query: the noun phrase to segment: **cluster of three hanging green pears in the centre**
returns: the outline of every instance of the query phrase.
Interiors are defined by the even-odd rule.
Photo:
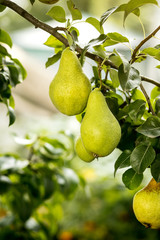
[[[62,53],[49,96],[55,107],[66,115],[77,115],[85,109],[80,137],[75,144],[82,160],[91,162],[109,155],[117,147],[121,138],[120,125],[100,89],[91,91],[91,83],[83,73],[79,59],[69,48]]]

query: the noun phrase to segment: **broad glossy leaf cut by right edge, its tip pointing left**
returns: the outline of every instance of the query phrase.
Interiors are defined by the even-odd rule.
[[[155,138],[160,136],[160,119],[159,117],[152,116],[136,129],[137,132],[150,137]]]

